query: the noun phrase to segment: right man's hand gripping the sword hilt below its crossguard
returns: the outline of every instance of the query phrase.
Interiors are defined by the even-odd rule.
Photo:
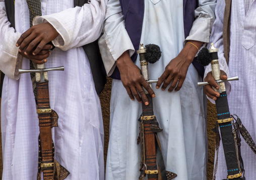
[[[227,78],[228,78],[228,77],[227,77],[227,74],[226,74],[224,71],[222,71],[222,70],[220,70],[220,78],[221,78],[222,80],[227,80]],[[220,93],[214,91],[212,87],[214,87],[214,88],[217,89],[217,90],[218,90],[220,87],[219,87],[219,85],[216,83],[216,81],[214,80],[212,71],[209,72],[209,73],[206,75],[206,77],[205,77],[205,82],[208,82],[208,83],[209,83],[208,85],[205,86],[205,93],[206,93],[206,95],[207,95],[209,98],[211,98],[211,99],[213,99],[213,100],[216,101],[216,100],[217,100],[217,97],[220,97]]]

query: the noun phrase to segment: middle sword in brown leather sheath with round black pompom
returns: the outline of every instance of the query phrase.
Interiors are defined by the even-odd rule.
[[[148,63],[155,63],[161,57],[159,46],[149,44],[145,46],[141,44],[137,53],[140,56],[141,74],[151,86],[151,83],[156,83],[157,80],[149,80]],[[143,88],[144,89],[144,88]],[[157,119],[153,112],[152,97],[146,89],[145,94],[148,98],[149,104],[146,106],[142,102],[142,115],[140,121],[140,135],[138,137],[138,144],[141,142],[141,174],[139,179],[142,180],[148,175],[148,180],[171,180],[177,174],[165,170],[165,165],[161,153],[160,141],[157,137],[157,132],[161,132]],[[157,169],[158,165],[158,169]]]

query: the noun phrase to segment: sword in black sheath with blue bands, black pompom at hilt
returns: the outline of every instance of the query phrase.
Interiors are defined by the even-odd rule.
[[[240,134],[246,141],[246,143],[250,146],[252,151],[256,154],[256,146],[254,141],[252,140],[249,132],[245,129],[241,120],[237,115],[230,115],[227,93],[225,88],[226,81],[234,81],[238,80],[238,76],[233,78],[228,78],[227,80],[221,80],[220,78],[220,67],[218,60],[218,49],[214,47],[214,44],[211,43],[211,48],[208,50],[207,48],[203,48],[198,54],[199,63],[203,66],[207,66],[211,63],[212,66],[212,74],[216,83],[219,85],[219,90],[213,89],[220,93],[220,97],[217,97],[216,109],[218,119],[216,121],[215,132],[216,136],[216,163],[214,168],[213,179],[216,179],[216,172],[218,167],[218,152],[220,145],[220,137],[222,138],[222,144],[225,154],[225,160],[227,165],[227,178],[233,180],[245,180],[244,177],[244,169],[243,169],[243,160],[241,157],[241,139]],[[208,85],[209,83],[203,82],[198,83],[198,86]],[[236,116],[236,118],[234,117]],[[219,134],[219,128],[221,132],[221,136]],[[239,134],[240,131],[240,134]],[[242,176],[243,175],[243,176]],[[224,179],[223,179],[224,180]]]

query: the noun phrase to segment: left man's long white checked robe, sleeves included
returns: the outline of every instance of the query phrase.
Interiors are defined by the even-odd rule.
[[[42,15],[47,15],[48,18],[54,18],[56,15],[66,17],[57,21],[62,27],[58,27],[58,23],[55,22],[51,22],[52,25],[56,28],[69,29],[68,34],[61,34],[65,41],[63,49],[67,51],[55,48],[46,63],[46,68],[65,67],[63,72],[48,73],[50,106],[59,116],[58,127],[52,129],[55,158],[70,171],[67,180],[103,180],[104,131],[100,101],[95,91],[88,58],[82,47],[75,47],[98,38],[102,31],[100,22],[104,19],[106,1],[92,0],[90,5],[75,9],[69,9],[73,7],[73,1],[42,0],[41,2]],[[1,0],[0,6],[2,12],[0,21],[3,18],[6,21],[4,1]],[[6,31],[9,36],[12,34],[20,36],[29,29],[26,0],[15,2],[15,17],[16,32],[19,34],[16,35],[14,30]],[[93,22],[92,17],[97,17],[97,20]],[[6,26],[7,29],[10,23],[5,25],[1,23],[1,26]],[[73,30],[70,31],[72,27]],[[86,32],[90,28],[92,30]],[[1,31],[1,39],[4,33]],[[66,41],[67,37],[70,41]],[[11,37],[10,39],[12,40]],[[12,42],[7,49],[9,54],[17,51],[15,40]],[[66,45],[66,42],[69,44]],[[5,45],[3,42],[0,44],[1,47]],[[0,54],[0,62],[5,58],[5,54]],[[11,60],[16,62],[17,57]],[[0,68],[3,70],[9,66],[1,65]],[[29,60],[23,59],[22,68],[29,69]],[[1,104],[3,179],[34,180],[37,175],[39,127],[30,74],[21,74],[19,80],[11,78],[12,76],[5,77]]]

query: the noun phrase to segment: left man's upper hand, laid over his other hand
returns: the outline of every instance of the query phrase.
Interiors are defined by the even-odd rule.
[[[58,35],[50,23],[41,23],[23,33],[16,46],[20,46],[19,52],[24,52],[24,55],[29,55],[31,51],[33,51],[32,55],[37,55],[47,43]]]

